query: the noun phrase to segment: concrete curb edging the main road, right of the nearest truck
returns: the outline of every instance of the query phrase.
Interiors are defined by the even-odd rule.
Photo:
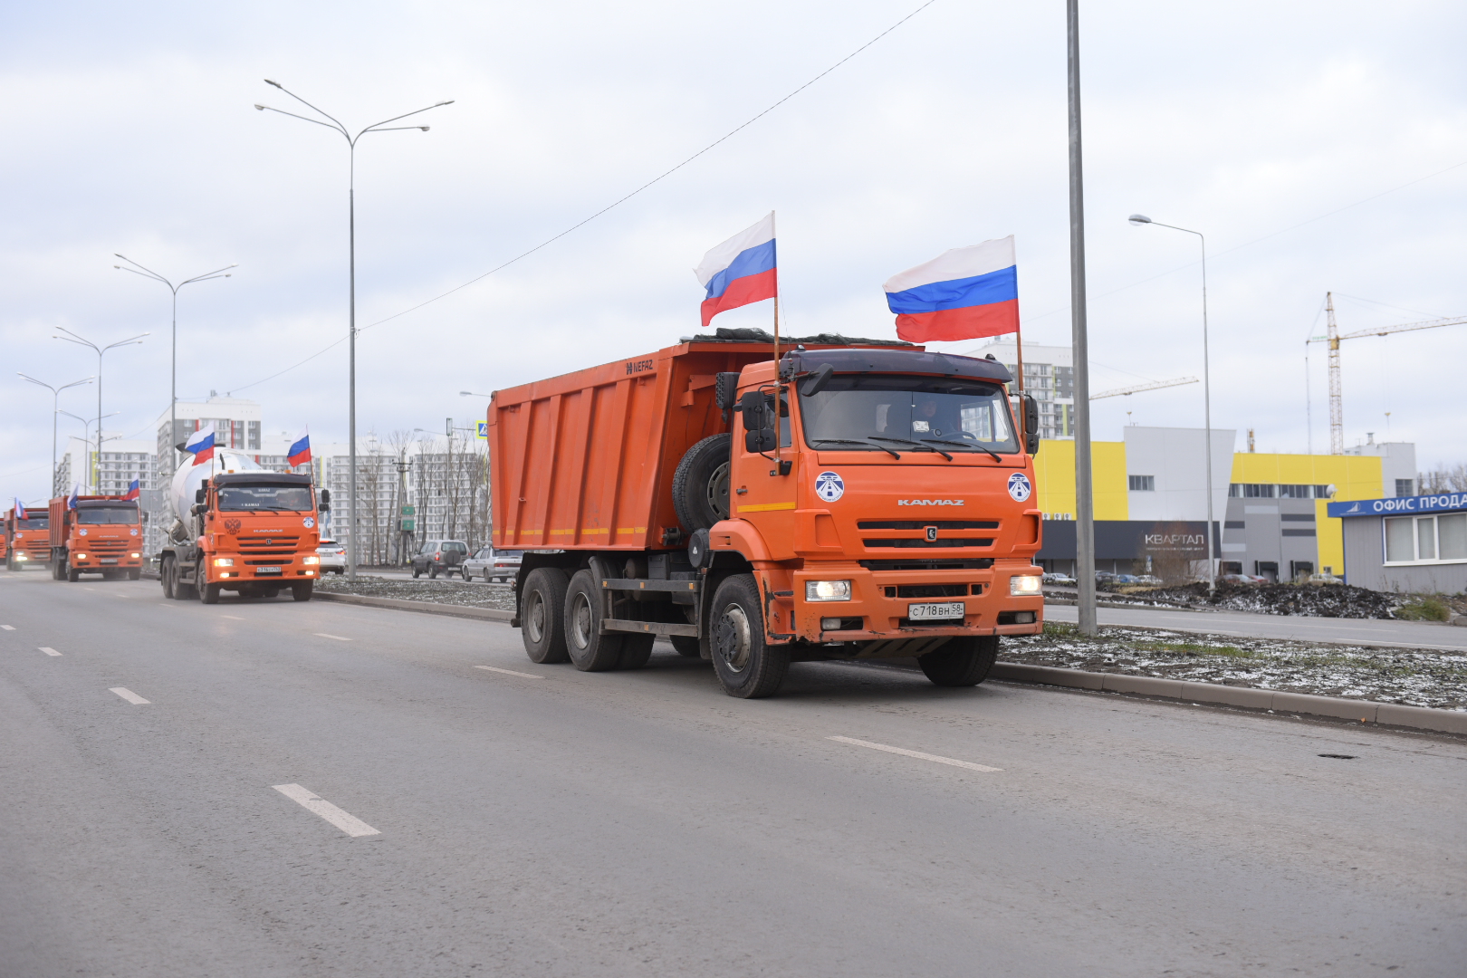
[[[1267,710],[1301,717],[1328,717],[1331,720],[1354,720],[1391,727],[1410,727],[1413,730],[1432,730],[1433,733],[1467,735],[1467,713],[1458,713],[1457,710],[1402,707],[1394,702],[1375,702],[1372,699],[1339,699],[1335,696],[1311,696],[1309,694],[1281,692],[1276,689],[1256,689],[1253,686],[1191,683],[1178,679],[1128,676],[1124,673],[1091,673],[1081,669],[1025,666],[1022,663],[995,663],[989,676],[1005,682],[1130,694],[1153,699],[1240,707],[1243,710]]]

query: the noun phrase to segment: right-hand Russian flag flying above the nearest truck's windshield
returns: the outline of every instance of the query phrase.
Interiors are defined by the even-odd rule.
[[[896,336],[911,343],[976,340],[1018,331],[1014,236],[954,248],[888,279]]]

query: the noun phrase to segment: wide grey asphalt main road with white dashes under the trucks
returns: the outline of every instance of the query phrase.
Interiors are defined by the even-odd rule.
[[[1449,738],[876,666],[747,702],[665,648],[584,674],[502,625],[35,572],[0,625],[6,978],[1467,960]]]

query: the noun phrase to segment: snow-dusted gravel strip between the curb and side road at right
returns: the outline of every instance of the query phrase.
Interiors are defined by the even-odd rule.
[[[1460,652],[1128,628],[1102,628],[1097,638],[1087,639],[1074,625],[1046,622],[1043,635],[1005,638],[999,658],[1094,673],[1467,710],[1467,655]]]

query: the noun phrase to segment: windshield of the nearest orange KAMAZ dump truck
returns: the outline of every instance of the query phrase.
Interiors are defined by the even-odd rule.
[[[901,374],[835,375],[800,397],[805,444],[842,452],[1018,452],[1008,396],[996,384]]]

